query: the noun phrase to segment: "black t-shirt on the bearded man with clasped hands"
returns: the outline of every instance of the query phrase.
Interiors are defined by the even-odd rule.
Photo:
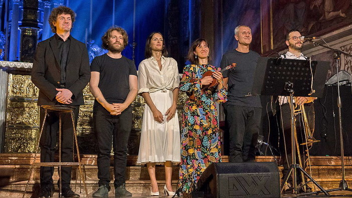
[[[100,73],[98,87],[108,103],[123,103],[129,92],[129,75],[137,76],[132,60],[124,56],[113,59],[107,54],[95,57],[90,71]],[[94,105],[97,104],[95,101]]]

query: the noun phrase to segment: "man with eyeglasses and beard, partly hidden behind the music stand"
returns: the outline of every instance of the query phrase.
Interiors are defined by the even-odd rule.
[[[297,59],[297,60],[307,60],[308,58],[305,57],[302,53],[301,50],[303,48],[303,42],[300,39],[301,34],[299,33],[298,30],[294,29],[291,30],[287,33],[286,35],[286,45],[288,47],[288,51],[281,55],[282,58],[284,59]],[[303,105],[305,109],[305,113],[307,115],[308,123],[309,123],[309,128],[313,132],[314,131],[314,107],[313,107],[313,100],[315,98],[312,97],[295,97],[294,98],[294,103],[298,105]],[[280,152],[283,153],[283,178],[286,176],[288,173],[289,165],[292,164],[292,154],[291,154],[291,115],[290,115],[290,106],[289,106],[289,97],[288,96],[279,96],[278,97],[278,110],[277,110],[277,119],[279,120],[279,130],[280,130],[280,142],[279,145],[281,145]],[[297,140],[298,144],[301,144],[303,142],[306,142],[306,137],[305,137],[305,132],[304,132],[304,126],[302,122],[302,115],[297,114],[295,116],[295,124],[296,124],[296,133],[297,133]],[[285,149],[286,147],[286,149]],[[306,167],[306,156],[305,150],[307,149],[306,145],[300,145],[299,146],[299,151],[301,154],[301,160],[302,160],[302,168]],[[298,163],[298,158],[297,163]],[[298,170],[298,169],[297,169]],[[306,178],[304,178],[306,180]],[[302,177],[300,175],[300,171],[297,171],[297,184],[301,183],[302,184]],[[305,183],[305,182],[304,182]],[[299,186],[298,186],[299,187]],[[311,191],[312,188],[306,185],[306,191]],[[302,191],[302,190],[301,190]],[[287,188],[285,190],[286,193],[292,193],[293,192],[293,184],[292,184],[292,176],[289,177],[287,181]]]

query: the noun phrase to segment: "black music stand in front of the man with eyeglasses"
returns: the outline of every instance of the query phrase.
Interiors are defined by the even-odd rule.
[[[319,68],[317,69],[317,65]],[[329,195],[299,164],[296,164],[295,148],[295,120],[293,114],[293,96],[321,97],[323,94],[325,78],[329,69],[328,62],[317,62],[309,60],[282,59],[260,57],[254,83],[252,95],[268,96],[290,96],[291,113],[291,152],[292,164],[289,172],[282,182],[281,191],[288,177],[292,172],[293,193],[297,193],[296,169],[307,176],[325,195]],[[313,93],[311,93],[311,78],[313,74]],[[305,183],[306,184],[306,183]]]

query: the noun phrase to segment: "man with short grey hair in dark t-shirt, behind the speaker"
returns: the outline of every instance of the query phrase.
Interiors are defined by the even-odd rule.
[[[252,32],[248,26],[235,28],[238,47],[223,55],[221,68],[236,63],[234,70],[223,73],[228,88],[228,101],[224,104],[230,133],[230,162],[255,160],[255,145],[259,134],[261,103],[259,96],[252,96],[253,78],[260,57],[251,51]]]

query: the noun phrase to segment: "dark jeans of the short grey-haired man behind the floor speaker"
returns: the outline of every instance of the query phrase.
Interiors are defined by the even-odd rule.
[[[227,105],[230,162],[255,161],[261,108]]]

